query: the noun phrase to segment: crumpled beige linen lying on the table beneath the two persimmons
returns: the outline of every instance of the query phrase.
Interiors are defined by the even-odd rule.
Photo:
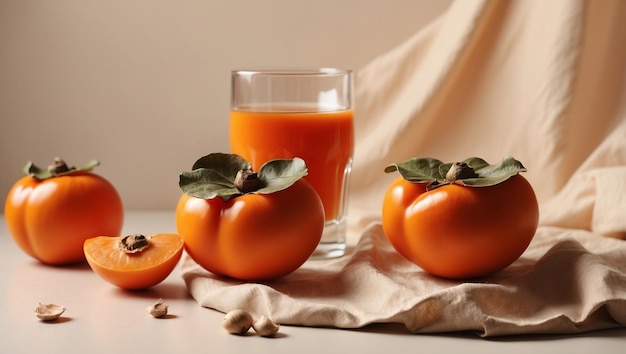
[[[216,276],[188,256],[182,273],[201,306],[242,308],[283,325],[402,323],[416,333],[475,331],[488,337],[625,326],[625,259],[621,240],[543,227],[505,270],[471,281],[447,280],[400,256],[376,223],[349,256],[310,260],[273,282]]]

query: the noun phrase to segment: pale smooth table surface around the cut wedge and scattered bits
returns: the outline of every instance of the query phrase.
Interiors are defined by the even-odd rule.
[[[576,336],[483,339],[474,333],[422,335],[382,324],[358,330],[282,326],[276,338],[234,336],[222,313],[200,307],[175,270],[155,287],[118,289],[88,265],[51,267],[28,257],[0,221],[1,353],[622,353],[626,329]],[[129,212],[124,234],[174,232],[172,212]],[[169,315],[155,319],[146,307],[162,298]],[[67,307],[55,322],[39,321],[39,303]],[[252,333],[252,332],[251,332]]]

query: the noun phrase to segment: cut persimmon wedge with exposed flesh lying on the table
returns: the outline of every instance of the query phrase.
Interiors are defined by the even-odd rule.
[[[141,240],[141,247],[129,247],[129,240]],[[83,250],[89,266],[102,279],[123,289],[145,289],[174,270],[183,239],[177,234],[97,236],[87,239]]]

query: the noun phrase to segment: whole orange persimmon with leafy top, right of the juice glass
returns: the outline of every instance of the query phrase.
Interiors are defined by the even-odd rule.
[[[489,275],[517,260],[534,237],[537,198],[513,158],[497,165],[415,158],[385,171],[401,175],[385,193],[383,231],[398,253],[431,274]]]

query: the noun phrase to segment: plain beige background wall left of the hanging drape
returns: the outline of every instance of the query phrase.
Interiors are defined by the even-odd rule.
[[[127,209],[174,209],[179,173],[228,150],[231,69],[358,70],[449,4],[2,0],[0,198],[29,160],[96,158]]]

